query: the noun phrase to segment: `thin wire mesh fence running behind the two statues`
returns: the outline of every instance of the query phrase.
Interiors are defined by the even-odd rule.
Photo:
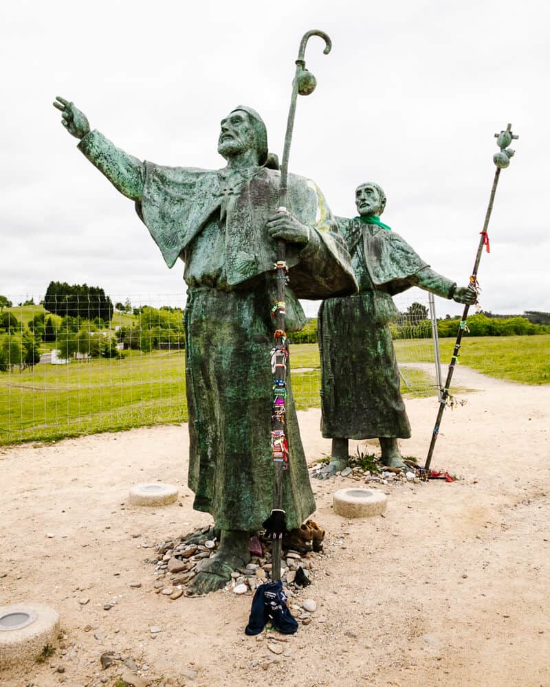
[[[400,295],[391,325],[404,392],[437,393],[426,293]],[[58,294],[0,305],[0,444],[188,419],[184,294]],[[13,305],[13,303],[17,305]],[[292,345],[298,409],[320,405],[316,320]],[[270,363],[266,351],[266,365]]]

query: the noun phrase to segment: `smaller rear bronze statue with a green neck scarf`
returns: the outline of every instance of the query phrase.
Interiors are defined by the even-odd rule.
[[[378,438],[382,462],[404,467],[397,438],[410,437],[399,369],[389,328],[397,309],[392,296],[411,286],[457,303],[476,293],[430,269],[399,234],[380,221],[386,194],[375,183],[355,191],[359,216],[338,218],[359,293],[330,297],[320,307],[322,435],[332,439],[331,460],[320,477],[344,469],[349,439]]]

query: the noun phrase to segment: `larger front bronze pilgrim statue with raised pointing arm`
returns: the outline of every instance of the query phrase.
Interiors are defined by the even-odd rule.
[[[57,98],[62,124],[78,148],[140,216],[173,267],[185,262],[186,387],[189,409],[188,484],[194,508],[221,531],[216,556],[203,564],[192,591],[223,586],[250,560],[250,534],[272,510],[270,348],[276,298],[276,242],[287,242],[286,329],[305,324],[298,298],[327,298],[356,290],[349,254],[336,221],[313,181],[289,175],[287,214],[276,212],[280,173],[267,151],[267,131],[252,108],[221,120],[221,170],[162,167],[124,153],[72,102]],[[287,389],[291,456],[283,508],[287,528],[315,510]]]

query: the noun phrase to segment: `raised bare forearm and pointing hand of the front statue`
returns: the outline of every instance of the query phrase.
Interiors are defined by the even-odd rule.
[[[115,188],[133,201],[143,193],[145,168],[137,157],[124,153],[99,131],[90,131],[86,115],[72,102],[57,96],[54,107],[62,112],[61,124],[74,137],[80,139],[79,150],[96,166]]]

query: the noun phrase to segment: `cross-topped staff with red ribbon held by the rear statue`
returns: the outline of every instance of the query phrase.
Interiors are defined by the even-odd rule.
[[[493,181],[493,188],[491,189],[491,195],[489,196],[489,205],[487,205],[487,212],[485,213],[485,222],[483,223],[483,230],[480,232],[481,238],[479,240],[479,245],[476,253],[476,260],[474,262],[474,269],[472,270],[472,275],[470,276],[470,284],[468,284],[469,288],[472,289],[472,291],[475,291],[476,294],[478,293],[478,281],[477,281],[477,271],[479,267],[479,262],[481,260],[481,254],[483,253],[483,247],[485,246],[485,249],[487,249],[487,253],[489,252],[489,234],[487,234],[487,227],[489,226],[489,219],[491,218],[491,212],[493,210],[493,203],[494,203],[494,196],[496,193],[496,186],[498,185],[498,179],[500,177],[500,170],[506,169],[507,166],[510,164],[510,158],[514,156],[515,151],[511,150],[511,148],[508,148],[509,144],[511,144],[512,140],[517,139],[518,136],[516,136],[514,133],[511,131],[511,124],[508,124],[508,126],[505,128],[504,131],[501,131],[500,133],[496,133],[494,137],[497,139],[496,144],[500,148],[498,153],[495,153],[493,156],[493,161],[494,164],[496,165],[496,171],[494,173],[494,181]],[[476,304],[478,304],[476,300]],[[441,418],[443,418],[443,411],[445,410],[445,405],[447,405],[447,401],[450,398],[449,394],[449,388],[452,380],[452,374],[454,372],[454,366],[456,365],[456,361],[458,360],[459,357],[459,350],[461,346],[461,341],[462,341],[462,335],[464,331],[467,328],[466,324],[466,318],[468,315],[468,310],[470,309],[470,306],[466,304],[464,306],[464,311],[462,313],[462,319],[460,322],[459,326],[459,332],[456,335],[456,341],[454,343],[454,350],[452,352],[452,357],[449,365],[449,370],[447,373],[447,379],[445,380],[445,386],[443,387],[443,390],[441,390],[440,398],[439,398],[439,410],[437,412],[437,419],[435,420],[435,425],[434,429],[432,432],[432,439],[430,441],[430,448],[428,449],[428,457],[426,458],[426,465],[424,466],[424,471],[425,474],[427,474],[427,471],[430,469],[430,464],[432,462],[432,455],[434,452],[435,448],[435,442],[437,441],[437,437],[439,436],[439,427],[441,426]]]

